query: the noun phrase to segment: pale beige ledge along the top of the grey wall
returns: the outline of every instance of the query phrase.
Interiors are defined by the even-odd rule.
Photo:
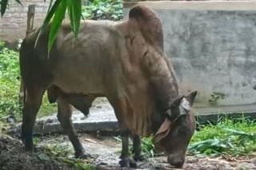
[[[256,10],[256,2],[253,1],[143,1],[124,2],[124,8],[134,5],[149,6],[161,10]]]

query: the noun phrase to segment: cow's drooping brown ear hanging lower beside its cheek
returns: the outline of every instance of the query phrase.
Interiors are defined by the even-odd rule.
[[[169,134],[170,125],[171,121],[168,118],[166,118],[165,121],[160,126],[160,128],[158,128],[158,132],[156,132],[154,135],[154,143],[158,143],[160,140],[162,140]]]

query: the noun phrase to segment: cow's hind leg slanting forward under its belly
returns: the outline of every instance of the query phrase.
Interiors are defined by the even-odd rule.
[[[85,149],[82,147],[78,135],[74,130],[74,126],[71,120],[72,110],[68,101],[62,95],[58,96],[58,121],[60,121],[64,132],[69,136],[69,139],[74,147],[75,157],[86,158],[90,156],[86,154]]]

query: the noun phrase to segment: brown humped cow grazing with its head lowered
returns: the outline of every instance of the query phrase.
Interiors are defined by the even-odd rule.
[[[74,101],[76,97],[104,96],[114,108],[121,131],[121,166],[135,166],[128,152],[128,135],[154,133],[156,146],[166,152],[170,164],[182,167],[195,128],[191,107],[196,92],[178,95],[174,71],[163,52],[162,25],[152,10],[135,6],[124,22],[86,21],[76,39],[70,26],[63,24],[49,57],[48,36],[46,30],[34,48],[37,30],[24,39],[20,50],[26,88],[22,110],[26,150],[33,149],[33,127],[42,95],[46,89],[57,87],[64,94],[57,95],[59,120],[69,136],[74,134],[72,101],[65,94]],[[138,141],[135,137],[136,146]],[[82,156],[80,142],[72,143],[77,156]]]

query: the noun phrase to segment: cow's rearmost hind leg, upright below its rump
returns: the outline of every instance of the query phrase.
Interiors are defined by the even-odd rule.
[[[22,140],[25,143],[26,151],[33,150],[34,121],[42,103],[43,93],[44,90],[38,87],[26,89],[26,101],[22,109]]]

